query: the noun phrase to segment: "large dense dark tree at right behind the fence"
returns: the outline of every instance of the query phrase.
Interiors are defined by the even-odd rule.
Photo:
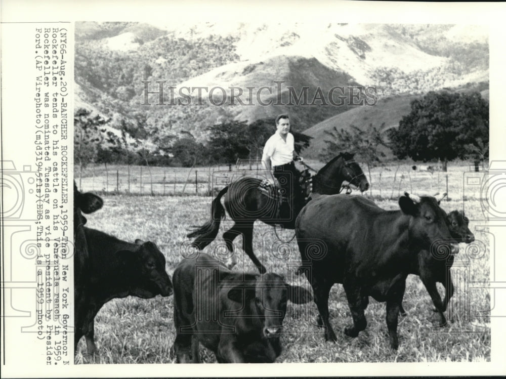
[[[398,129],[389,131],[389,138],[398,158],[440,159],[446,171],[455,158],[485,159],[488,134],[488,103],[480,93],[429,92],[411,102],[411,112],[402,117]]]

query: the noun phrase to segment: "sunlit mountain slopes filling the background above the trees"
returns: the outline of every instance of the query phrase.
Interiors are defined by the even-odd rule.
[[[343,120],[350,118],[357,126],[382,118],[394,122],[397,114],[387,117],[382,107],[350,109],[348,87],[374,86],[376,96],[386,100],[488,83],[488,32],[481,26],[81,22],[75,40],[76,104],[111,118],[112,127],[123,119],[144,119],[146,130],[157,136],[190,133],[203,142],[209,125],[229,119],[255,121],[281,112],[290,113],[299,131],[313,125],[318,131],[322,127],[316,124],[345,111],[352,113]],[[157,95],[150,95],[151,105],[143,106],[143,81],[151,83],[150,91],[157,90],[157,81],[163,82],[168,103],[175,98],[190,104],[159,106]],[[276,81],[282,82],[280,91]],[[343,105],[312,101],[317,91],[325,96],[336,86],[346,88],[342,95],[348,101]],[[170,87],[176,89],[174,98]],[[205,91],[198,97],[188,89],[192,98],[185,100],[190,98],[178,95],[185,87]],[[220,89],[209,99],[213,87]],[[244,105],[232,101],[230,87],[243,91]],[[221,88],[226,99],[216,105],[221,104]],[[252,99],[248,88],[253,88]],[[304,91],[308,101],[289,105],[293,95]],[[364,99],[363,91],[358,99]],[[321,134],[315,133],[319,139]]]

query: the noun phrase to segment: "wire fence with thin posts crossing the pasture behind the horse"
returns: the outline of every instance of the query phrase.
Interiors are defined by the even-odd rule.
[[[311,162],[316,170],[323,163]],[[373,167],[369,174],[367,166],[361,164],[370,188],[363,195],[370,198],[394,199],[405,191],[414,194],[436,194],[447,192],[448,198],[481,198],[484,170],[474,164],[460,162],[448,164],[442,172],[434,166],[412,164],[389,164]],[[302,169],[302,166],[300,167]],[[478,171],[477,171],[478,170]],[[95,165],[83,170],[77,186],[81,190],[97,193],[160,196],[213,196],[223,187],[244,176],[270,180],[260,161],[237,161],[210,167],[148,167]],[[358,191],[354,191],[360,193]]]

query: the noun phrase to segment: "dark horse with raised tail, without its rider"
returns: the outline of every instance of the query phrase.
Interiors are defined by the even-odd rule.
[[[353,156],[354,154],[351,153],[341,153],[328,162],[315,176],[309,179],[308,182],[312,184],[311,192],[333,195],[341,191],[344,181],[358,187],[361,192],[366,191],[369,188],[369,183]],[[306,174],[309,176],[307,170]],[[223,239],[225,239],[228,250],[233,252],[232,242],[235,237],[242,234],[242,248],[259,271],[264,274],[266,269],[253,252],[253,224],[255,220],[263,221],[269,225],[283,225],[287,229],[293,229],[295,219],[305,205],[307,197],[302,191],[297,191],[291,207],[293,212],[289,217],[280,219],[277,213],[279,202],[276,196],[268,196],[261,191],[261,183],[261,179],[245,177],[222,189],[212,202],[211,219],[187,235],[188,238],[196,237],[192,245],[202,250],[216,238],[220,221],[225,217],[226,209],[232,220],[235,221],[234,226],[223,233]],[[271,191],[273,194],[275,193],[272,188]],[[223,195],[225,195],[225,208],[220,202]],[[228,265],[229,268],[235,265],[236,260],[234,258],[232,256],[232,262]]]

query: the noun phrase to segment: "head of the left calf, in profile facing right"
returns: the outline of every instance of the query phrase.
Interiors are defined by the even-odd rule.
[[[119,262],[131,283],[130,294],[150,299],[158,294],[171,296],[172,281],[165,271],[165,257],[153,242],[136,240],[136,250],[116,252]]]

